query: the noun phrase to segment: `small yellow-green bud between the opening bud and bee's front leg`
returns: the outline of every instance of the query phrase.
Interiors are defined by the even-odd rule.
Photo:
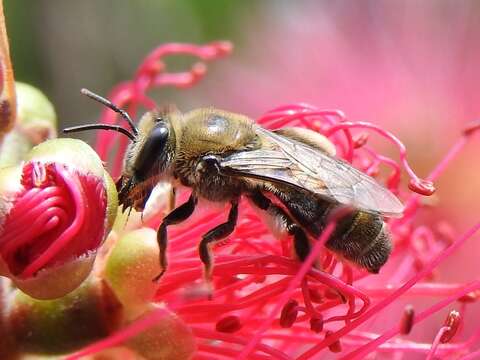
[[[152,281],[160,273],[158,258],[157,234],[150,228],[127,233],[111,250],[105,279],[129,309],[152,301],[158,289],[158,284]]]

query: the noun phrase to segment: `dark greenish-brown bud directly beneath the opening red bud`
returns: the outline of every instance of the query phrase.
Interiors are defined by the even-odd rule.
[[[36,300],[18,289],[11,291],[5,325],[22,352],[61,354],[100,340],[122,321],[122,307],[98,279],[91,277],[70,294],[55,300]]]

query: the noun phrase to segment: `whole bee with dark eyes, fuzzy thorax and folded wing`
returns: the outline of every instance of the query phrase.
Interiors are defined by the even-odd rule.
[[[83,94],[119,113],[130,129],[89,124],[65,133],[103,129],[129,144],[116,185],[123,210],[142,211],[159,181],[192,189],[189,199],[166,215],[158,229],[160,279],[167,269],[167,228],[185,221],[198,199],[230,203],[227,220],[203,235],[199,255],[211,279],[211,248],[237,223],[241,197],[282,224],[300,260],[310,252],[329,214],[347,205],[326,247],[371,273],[378,273],[392,245],[384,216],[400,216],[402,203],[373,178],[334,156],[332,145],[308,129],[266,130],[247,116],[210,108],[181,113],[173,107],[147,112],[136,126],[129,115],[86,89]]]

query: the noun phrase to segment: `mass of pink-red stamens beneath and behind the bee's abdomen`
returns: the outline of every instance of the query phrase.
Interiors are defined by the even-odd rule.
[[[434,188],[430,180],[445,170],[472,133],[467,131],[428,180],[421,180],[409,167],[402,143],[374,124],[345,121],[339,112],[325,112],[304,104],[279,107],[258,122],[269,128],[303,126],[323,133],[335,144],[338,156],[372,174],[405,200],[405,216],[388,221],[394,251],[381,274],[372,275],[325,250],[323,243],[333,231],[333,223],[317,239],[311,255],[302,264],[291,258],[290,240],[279,242],[274,238],[257,212],[244,202],[240,206],[236,230],[215,250],[215,290],[211,300],[202,291],[202,266],[197,246],[202,235],[221,223],[225,214],[203,209],[187,225],[172,227],[169,231],[170,265],[155,299],[165,302],[189,324],[197,337],[194,358],[260,359],[266,355],[278,359],[310,359],[317,358],[325,350],[347,354],[357,348],[346,357],[353,359],[362,358],[377,347],[378,351],[391,354],[444,355],[468,351],[480,331],[447,345],[433,338],[432,345],[414,339],[388,339],[400,332],[404,338],[407,332],[414,333],[419,321],[455,301],[461,301],[463,305],[458,309],[464,312],[466,302],[462,299],[466,294],[472,294],[476,301],[472,291],[480,288],[479,281],[448,284],[436,281],[431,273],[480,225],[447,242],[445,232],[435,224],[417,224],[424,204],[418,194],[411,193],[406,189],[407,184],[400,181],[403,167],[411,176],[408,188],[419,194],[431,194]],[[370,148],[365,137],[358,137],[354,129],[374,131],[395,144],[400,151],[400,162]],[[383,167],[390,171],[385,172]],[[151,216],[145,222],[156,228],[160,219],[161,216]],[[152,260],[155,255],[152,254]],[[315,259],[320,264],[319,269],[311,266]],[[416,298],[442,297],[442,301],[424,311],[417,309],[416,315],[407,315],[409,319],[401,311],[398,316],[392,316],[385,308],[402,304],[400,296],[407,291]],[[411,312],[408,308],[408,313]],[[449,333],[453,328],[458,332],[458,321],[464,316],[461,313],[462,310],[455,313],[457,322],[455,326],[449,325]],[[372,317],[390,320],[359,328],[368,324]],[[393,327],[389,329],[387,324],[392,321]],[[447,325],[442,326],[440,322],[438,328],[443,330],[438,338],[446,339]],[[453,335],[449,341],[452,338]]]

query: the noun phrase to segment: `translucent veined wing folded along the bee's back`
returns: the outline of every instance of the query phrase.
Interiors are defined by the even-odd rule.
[[[256,128],[272,146],[231,154],[220,162],[227,173],[281,182],[358,209],[400,216],[402,203],[370,176],[299,141]]]

